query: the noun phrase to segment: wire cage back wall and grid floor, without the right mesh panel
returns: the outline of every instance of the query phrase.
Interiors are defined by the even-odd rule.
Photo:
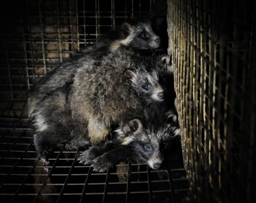
[[[79,151],[63,145],[54,148],[51,166],[45,167],[24,114],[29,90],[63,58],[129,17],[154,14],[158,30],[165,25],[166,32],[166,9],[166,1],[154,0],[1,2],[1,202],[191,202],[181,146],[174,146],[157,171],[146,164],[120,163],[97,173],[78,163]]]

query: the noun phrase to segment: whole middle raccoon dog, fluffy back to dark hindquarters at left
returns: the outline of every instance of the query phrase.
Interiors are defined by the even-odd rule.
[[[80,148],[105,142],[112,125],[123,117],[162,102],[158,75],[164,68],[159,56],[141,57],[133,50],[84,63],[73,85],[50,92],[35,106],[32,122],[39,156],[47,159],[51,147],[61,143]]]

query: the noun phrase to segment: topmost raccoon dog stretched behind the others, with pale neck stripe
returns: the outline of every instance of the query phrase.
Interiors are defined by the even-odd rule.
[[[49,92],[63,88],[67,84],[71,85],[78,68],[82,67],[86,61],[100,60],[109,52],[119,51],[126,47],[136,50],[155,50],[160,47],[160,44],[160,38],[154,33],[148,19],[130,19],[123,22],[113,35],[106,36],[94,46],[76,53],[46,74],[46,77],[37,83],[28,98],[28,117],[33,116],[35,106]]]

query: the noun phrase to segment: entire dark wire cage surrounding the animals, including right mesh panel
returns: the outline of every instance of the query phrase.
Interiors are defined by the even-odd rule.
[[[1,2],[1,200],[192,202],[191,187],[199,203],[253,202],[255,11],[247,0]],[[141,14],[154,14],[160,31],[167,17],[182,153],[174,147],[157,171],[121,164],[97,173],[60,145],[46,172],[24,115],[29,90],[63,58]]]

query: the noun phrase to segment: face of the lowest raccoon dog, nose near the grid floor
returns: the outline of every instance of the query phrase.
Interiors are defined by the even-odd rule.
[[[175,117],[171,118],[171,120],[175,119]],[[117,132],[122,131],[120,133],[123,135],[122,145],[131,147],[132,160],[138,163],[147,162],[149,167],[158,170],[164,159],[165,150],[171,147],[174,139],[179,138],[180,128],[174,125],[173,121],[151,124],[147,119],[135,118]]]

